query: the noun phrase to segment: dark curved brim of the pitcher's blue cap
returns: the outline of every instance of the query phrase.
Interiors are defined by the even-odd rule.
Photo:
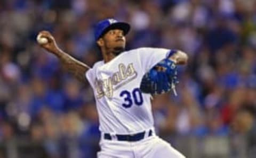
[[[106,29],[104,29],[104,31],[101,33],[101,35],[100,35],[100,37],[98,39],[100,39],[109,30],[113,30],[113,29],[123,30],[124,31],[124,35],[126,35],[130,31],[130,28],[131,28],[130,24],[125,23],[125,22],[113,23],[113,24],[109,25]]]

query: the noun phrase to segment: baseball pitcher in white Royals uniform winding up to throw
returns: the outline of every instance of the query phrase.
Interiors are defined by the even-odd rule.
[[[92,68],[63,52],[49,32],[39,32],[37,40],[69,73],[92,86],[101,131],[98,157],[185,157],[156,136],[150,96],[174,90],[176,65],[188,57],[163,48],[125,51],[129,30],[128,23],[114,19],[97,24],[94,36],[103,60]]]

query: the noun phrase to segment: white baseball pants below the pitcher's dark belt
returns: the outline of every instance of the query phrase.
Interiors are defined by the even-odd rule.
[[[100,147],[98,158],[185,158],[155,135],[137,142],[101,139]]]

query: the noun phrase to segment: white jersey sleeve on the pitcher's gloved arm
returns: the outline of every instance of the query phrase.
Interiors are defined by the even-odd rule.
[[[138,49],[141,68],[144,73],[167,57],[170,49],[164,48],[140,48]]]

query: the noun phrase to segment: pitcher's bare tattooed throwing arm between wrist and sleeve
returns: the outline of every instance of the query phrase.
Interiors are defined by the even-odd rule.
[[[79,62],[77,59],[61,50],[55,52],[55,55],[60,59],[63,68],[65,68],[68,73],[74,75],[77,80],[85,82],[85,72],[90,68],[89,66]]]

